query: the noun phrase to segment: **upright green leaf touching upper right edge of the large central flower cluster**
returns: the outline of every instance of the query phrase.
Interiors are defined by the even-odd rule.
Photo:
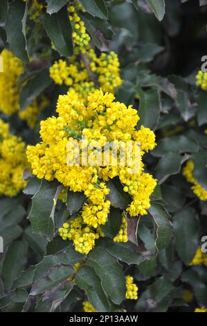
[[[145,92],[140,87],[136,87],[139,96],[138,115],[140,121],[138,126],[155,129],[161,112],[160,98],[156,89],[149,89]]]

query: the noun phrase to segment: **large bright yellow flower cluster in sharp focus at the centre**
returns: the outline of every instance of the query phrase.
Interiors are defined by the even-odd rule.
[[[127,208],[132,216],[147,214],[150,195],[156,185],[152,175],[144,173],[142,162],[136,173],[132,173],[134,162],[129,161],[130,166],[121,164],[121,160],[117,160],[115,165],[103,164],[104,155],[108,154],[110,160],[114,158],[114,151],[110,147],[106,149],[106,144],[113,141],[118,158],[121,158],[119,141],[138,139],[141,141],[141,161],[144,151],[155,146],[154,133],[143,127],[136,130],[139,118],[132,105],[127,108],[125,104],[114,101],[113,94],[104,94],[101,89],[90,92],[87,102],[71,89],[59,96],[57,113],[58,117],[41,122],[42,142],[28,146],[28,162],[37,178],[56,179],[71,191],[84,191],[87,202],[82,207],[82,215],[63,225],[60,235],[63,239],[71,239],[75,250],[87,254],[95,240],[103,236],[100,225],[107,222],[110,201],[105,182],[117,176],[126,185],[132,195],[132,203]],[[87,162],[84,162],[86,149]],[[101,164],[98,164],[98,159],[101,159]],[[117,239],[121,238],[121,232]],[[126,241],[125,231],[122,237]]]

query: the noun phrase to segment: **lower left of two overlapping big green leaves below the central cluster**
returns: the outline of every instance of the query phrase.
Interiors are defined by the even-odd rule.
[[[75,275],[75,284],[87,292],[89,302],[97,311],[110,311],[109,302],[102,289],[100,278],[93,268],[82,266]]]

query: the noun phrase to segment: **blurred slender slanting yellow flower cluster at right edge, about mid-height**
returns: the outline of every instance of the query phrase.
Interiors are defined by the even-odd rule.
[[[201,187],[199,182],[195,179],[193,175],[194,163],[192,160],[189,160],[186,166],[183,169],[183,175],[186,177],[186,180],[192,183],[192,191],[194,194],[200,198],[200,200],[207,200],[207,191]]]

